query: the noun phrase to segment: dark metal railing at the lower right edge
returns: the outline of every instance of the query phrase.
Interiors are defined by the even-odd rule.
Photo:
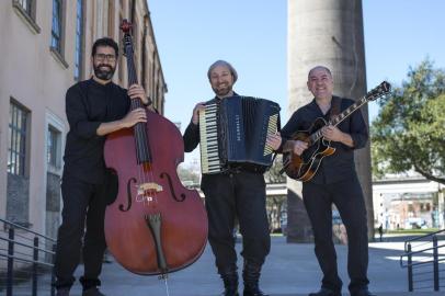
[[[408,291],[441,291],[445,287],[445,229],[404,242],[400,266],[408,270]],[[415,287],[414,287],[415,284]]]

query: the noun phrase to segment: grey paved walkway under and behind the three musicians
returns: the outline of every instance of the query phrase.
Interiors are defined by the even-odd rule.
[[[240,250],[241,244],[237,243]],[[344,282],[343,295],[349,295],[346,273],[347,247],[335,246],[338,251],[340,276]],[[408,293],[407,270],[400,267],[400,254],[403,242],[369,243],[369,288],[378,296],[436,296],[445,292]],[[240,263],[242,260],[239,260]],[[441,264],[442,265],[442,264]],[[445,266],[445,264],[443,265]],[[443,267],[442,267],[443,269]],[[240,269],[241,270],[241,269]],[[79,266],[77,275],[81,275]],[[432,276],[431,276],[432,277]],[[311,243],[286,243],[283,237],[272,238],[272,251],[267,257],[261,277],[261,287],[271,296],[303,296],[318,289],[321,273],[313,254]],[[124,270],[118,263],[106,263],[101,276],[102,291],[107,296],[166,296],[166,283],[155,276],[140,276]],[[442,275],[442,283],[445,278]],[[50,295],[48,278],[41,278],[38,296]],[[46,283],[46,284],[45,284]],[[444,285],[443,284],[443,285]],[[432,283],[430,284],[432,285]],[[207,246],[199,260],[190,267],[170,274],[168,280],[170,296],[216,296],[222,291],[222,284],[216,274],[214,257]],[[445,291],[445,287],[442,287]],[[14,296],[31,295],[20,293]],[[241,287],[240,287],[241,291]],[[2,293],[0,293],[2,295]],[[81,287],[77,282],[72,296],[80,296]]]

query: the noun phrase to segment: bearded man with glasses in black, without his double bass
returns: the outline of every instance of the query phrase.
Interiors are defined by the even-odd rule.
[[[70,129],[64,156],[64,208],[55,262],[57,296],[69,295],[81,249],[84,262],[80,278],[82,296],[103,295],[98,286],[101,284],[99,275],[106,248],[103,228],[106,207],[105,135],[147,121],[146,110],[129,112],[130,100],[140,99],[144,104],[149,103],[140,86],[133,84],[125,90],[112,82],[117,58],[118,46],[112,38],[95,41],[91,53],[92,78],[76,83],[66,94]]]

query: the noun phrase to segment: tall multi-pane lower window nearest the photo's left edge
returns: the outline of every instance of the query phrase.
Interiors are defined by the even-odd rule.
[[[9,109],[9,141],[8,141],[8,172],[25,175],[27,118],[30,112],[24,107],[10,103]]]

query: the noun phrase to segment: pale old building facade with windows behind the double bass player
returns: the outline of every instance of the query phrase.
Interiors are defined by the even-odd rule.
[[[56,237],[65,93],[92,73],[91,47],[133,22],[140,84],[163,114],[167,84],[145,0],[0,1],[0,217]],[[127,87],[119,57],[114,81]]]

